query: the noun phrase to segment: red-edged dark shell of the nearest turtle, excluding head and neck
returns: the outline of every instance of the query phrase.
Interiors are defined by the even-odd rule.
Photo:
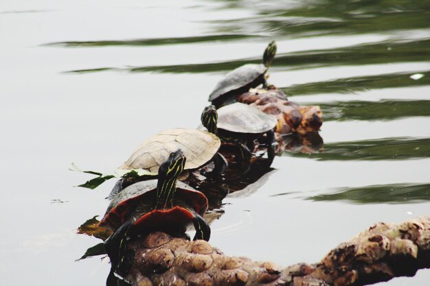
[[[207,198],[200,191],[177,181],[172,208],[155,209],[157,180],[137,182],[126,187],[109,204],[99,226],[117,230],[133,219],[133,225],[151,227],[178,227],[192,223],[192,211],[203,215],[207,211]],[[191,208],[191,211],[190,211]]]

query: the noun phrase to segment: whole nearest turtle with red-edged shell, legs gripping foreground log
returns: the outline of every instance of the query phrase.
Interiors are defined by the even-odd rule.
[[[210,226],[202,217],[207,211],[207,198],[177,181],[185,162],[181,150],[170,153],[159,167],[158,179],[136,182],[111,200],[99,223],[115,231],[104,243],[111,258],[106,285],[116,285],[115,276],[124,277],[131,267],[133,253],[124,256],[128,238],[156,230],[184,237],[187,226],[194,224],[194,240],[210,239]]]

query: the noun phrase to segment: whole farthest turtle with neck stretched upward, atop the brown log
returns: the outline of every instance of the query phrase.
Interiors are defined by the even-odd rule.
[[[270,67],[276,54],[276,44],[272,41],[267,45],[263,53],[262,64],[244,64],[225,75],[220,80],[212,93],[209,95],[209,101],[217,108],[231,102],[236,102],[236,97],[249,91],[249,88],[263,84],[267,87],[265,74]]]

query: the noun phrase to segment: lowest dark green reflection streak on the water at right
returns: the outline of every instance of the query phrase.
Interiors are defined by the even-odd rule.
[[[381,184],[358,188],[341,188],[332,193],[313,195],[308,200],[341,200],[355,204],[403,204],[430,200],[430,184]]]

